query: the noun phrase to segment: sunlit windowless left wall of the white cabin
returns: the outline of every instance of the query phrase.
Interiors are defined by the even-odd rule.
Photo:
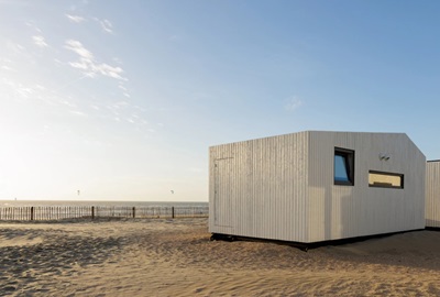
[[[308,132],[210,147],[209,231],[307,242]]]

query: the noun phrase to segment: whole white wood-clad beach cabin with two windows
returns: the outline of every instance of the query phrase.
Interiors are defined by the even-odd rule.
[[[209,231],[314,243],[425,228],[426,157],[404,133],[306,131],[209,148]]]

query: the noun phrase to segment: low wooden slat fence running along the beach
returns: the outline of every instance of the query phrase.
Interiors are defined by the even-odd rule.
[[[0,207],[0,221],[97,218],[207,218],[208,207]]]

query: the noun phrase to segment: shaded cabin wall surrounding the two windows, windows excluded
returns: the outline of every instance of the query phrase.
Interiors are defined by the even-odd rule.
[[[334,147],[354,151],[353,186],[334,185]],[[310,132],[309,150],[309,242],[425,228],[426,158],[406,134]],[[404,188],[370,187],[369,170]]]

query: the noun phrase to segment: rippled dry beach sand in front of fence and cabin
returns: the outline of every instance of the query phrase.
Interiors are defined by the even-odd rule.
[[[307,253],[207,219],[0,224],[0,296],[440,296],[440,232]]]

